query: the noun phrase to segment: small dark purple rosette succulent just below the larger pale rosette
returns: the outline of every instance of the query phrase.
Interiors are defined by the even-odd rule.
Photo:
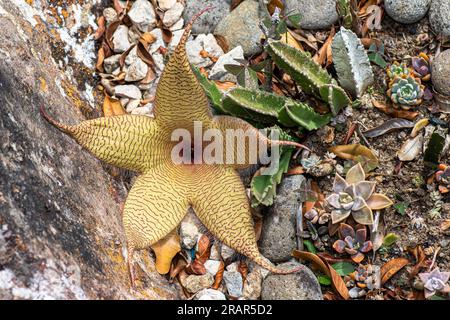
[[[355,232],[350,225],[341,223],[339,234],[341,239],[334,242],[333,249],[339,253],[347,252],[356,263],[363,261],[364,254],[373,248],[372,241],[366,241],[367,229],[363,225],[359,225]]]

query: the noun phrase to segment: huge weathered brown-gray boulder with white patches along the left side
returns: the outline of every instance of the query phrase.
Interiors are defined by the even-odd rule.
[[[8,48],[0,50],[0,300],[183,298],[151,259],[142,263],[148,251],[135,254],[142,282],[130,292],[121,179],[39,114],[44,105],[63,123],[84,120],[79,110],[90,107],[79,92],[94,81],[73,62],[75,78],[67,77],[57,63],[66,45],[50,33],[61,26],[33,28],[34,18],[22,16],[32,7],[16,3],[0,0],[0,43]]]

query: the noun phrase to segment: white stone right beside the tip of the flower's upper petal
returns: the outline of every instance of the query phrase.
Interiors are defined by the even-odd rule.
[[[186,43],[186,52],[189,57],[189,61],[199,68],[206,68],[214,64],[209,58],[203,58],[201,51],[207,51],[213,57],[221,57],[224,55],[222,48],[217,44],[216,38],[213,34],[201,34],[195,40],[188,41]]]

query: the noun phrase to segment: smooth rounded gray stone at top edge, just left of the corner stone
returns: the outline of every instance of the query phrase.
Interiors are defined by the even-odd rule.
[[[430,3],[431,0],[386,0],[384,9],[395,21],[411,24],[425,17]]]

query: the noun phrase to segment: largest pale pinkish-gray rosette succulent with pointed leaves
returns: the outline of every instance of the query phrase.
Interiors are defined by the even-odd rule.
[[[332,207],[333,224],[352,215],[356,222],[371,225],[373,224],[372,210],[384,209],[393,204],[385,195],[374,193],[376,182],[365,181],[365,177],[360,163],[348,170],[345,179],[336,174],[333,194],[326,198],[327,203]]]

